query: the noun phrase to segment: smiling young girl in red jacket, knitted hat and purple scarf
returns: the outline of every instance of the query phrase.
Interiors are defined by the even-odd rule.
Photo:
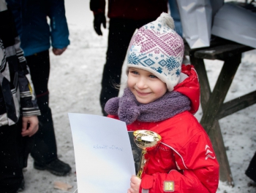
[[[148,151],[140,178],[132,176],[128,193],[216,192],[219,165],[211,141],[193,116],[200,103],[195,69],[181,66],[184,43],[162,13],[132,37],[127,88],[111,98],[105,111],[127,123],[128,131],[151,130],[162,137]]]

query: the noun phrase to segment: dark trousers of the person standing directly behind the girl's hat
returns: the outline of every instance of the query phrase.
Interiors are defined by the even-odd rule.
[[[104,111],[105,103],[110,98],[118,96],[119,90],[114,85],[120,85],[121,83],[121,69],[132,35],[137,28],[152,20],[110,19],[108,50],[102,74],[102,90],[99,96],[104,115],[106,115]]]

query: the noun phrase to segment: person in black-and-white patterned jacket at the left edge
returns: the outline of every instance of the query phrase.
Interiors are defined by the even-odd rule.
[[[0,1],[0,192],[16,193],[25,186],[27,166],[40,115],[29,68],[12,12]],[[33,135],[33,137],[32,137]]]

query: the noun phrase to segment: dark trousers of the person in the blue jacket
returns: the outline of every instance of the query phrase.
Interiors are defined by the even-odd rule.
[[[31,156],[40,164],[45,164],[57,158],[56,138],[53,128],[53,118],[49,108],[48,79],[50,75],[49,51],[39,52],[26,57],[30,68],[31,79],[37,95],[37,104],[41,111],[39,130],[34,135],[34,148]]]

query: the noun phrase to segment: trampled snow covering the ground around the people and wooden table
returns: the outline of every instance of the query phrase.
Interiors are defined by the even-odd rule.
[[[33,159],[29,157],[28,167],[24,171],[26,181],[24,193],[75,192],[77,188],[75,156],[67,114],[69,112],[102,114],[99,106],[99,91],[107,50],[108,30],[103,30],[103,36],[97,36],[94,32],[89,0],[67,0],[65,3],[71,44],[61,56],[50,53],[49,90],[58,155],[62,161],[69,163],[72,173],[66,177],[59,177],[48,171],[35,170]],[[255,61],[256,50],[244,53],[225,101],[256,90]],[[205,60],[205,62],[210,86],[213,88],[222,68],[222,61]],[[124,71],[121,80],[122,92],[126,82]],[[248,186],[252,181],[244,174],[256,151],[255,114],[256,105],[253,105],[219,120],[235,186],[232,188],[227,186],[226,182],[220,181],[218,193],[256,192],[255,187]],[[200,109],[195,117],[200,119],[201,116]],[[69,184],[72,189],[69,191],[54,189],[55,181]]]

